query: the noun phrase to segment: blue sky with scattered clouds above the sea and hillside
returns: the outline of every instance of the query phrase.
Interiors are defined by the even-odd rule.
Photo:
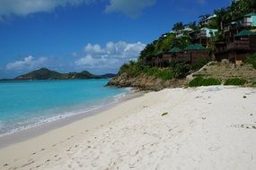
[[[47,67],[117,73],[177,21],[230,0],[0,0],[0,79]]]

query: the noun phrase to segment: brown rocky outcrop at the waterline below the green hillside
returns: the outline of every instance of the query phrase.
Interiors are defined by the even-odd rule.
[[[141,90],[154,90],[158,91],[164,88],[183,87],[183,80],[169,80],[163,81],[162,79],[146,74],[140,74],[136,77],[130,77],[126,72],[112,78],[108,86],[116,87],[133,87]]]

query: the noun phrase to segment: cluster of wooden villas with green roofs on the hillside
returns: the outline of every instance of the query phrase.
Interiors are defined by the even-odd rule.
[[[207,24],[215,18],[215,15],[200,21]],[[241,64],[248,54],[256,53],[256,13],[248,13],[236,21],[225,24],[223,38],[215,43],[214,54],[209,56],[207,47],[211,39],[216,36],[218,30],[204,27],[200,30],[185,28],[179,31],[171,31],[176,38],[188,37],[192,44],[185,49],[172,47],[166,53],[157,51],[146,58],[145,64],[152,66],[167,66],[171,61],[194,63],[202,58],[229,59],[234,64]],[[166,38],[168,33],[162,35]]]

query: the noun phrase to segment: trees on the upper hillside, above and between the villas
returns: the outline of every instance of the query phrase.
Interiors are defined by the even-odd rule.
[[[232,3],[229,7],[221,8],[215,10],[216,18],[211,20],[207,25],[198,25],[195,21],[190,22],[189,24],[183,24],[183,22],[177,22],[173,24],[172,30],[179,31],[183,30],[186,27],[189,27],[192,30],[199,30],[202,27],[207,27],[210,29],[222,30],[226,23],[230,21],[238,20],[242,18],[247,13],[252,13],[256,8],[255,0],[240,0],[236,3]],[[210,14],[200,15],[199,19],[206,19]],[[183,32],[184,35],[187,35],[186,32]],[[212,38],[212,42],[208,46],[209,48],[214,47],[215,41],[223,38],[223,32],[219,31],[216,34],[216,37]],[[150,59],[156,52],[163,51],[167,52],[172,47],[179,47],[181,49],[189,46],[191,44],[190,38],[183,36],[181,38],[176,38],[175,34],[168,33],[164,37],[160,37],[155,40],[153,43],[148,44],[146,48],[141,52],[139,60],[143,61],[145,59]]]

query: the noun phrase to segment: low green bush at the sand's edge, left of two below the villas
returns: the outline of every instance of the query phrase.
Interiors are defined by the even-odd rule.
[[[198,86],[213,86],[213,85],[220,85],[221,81],[213,78],[204,79],[202,77],[197,77],[190,81],[190,87],[198,87]]]

